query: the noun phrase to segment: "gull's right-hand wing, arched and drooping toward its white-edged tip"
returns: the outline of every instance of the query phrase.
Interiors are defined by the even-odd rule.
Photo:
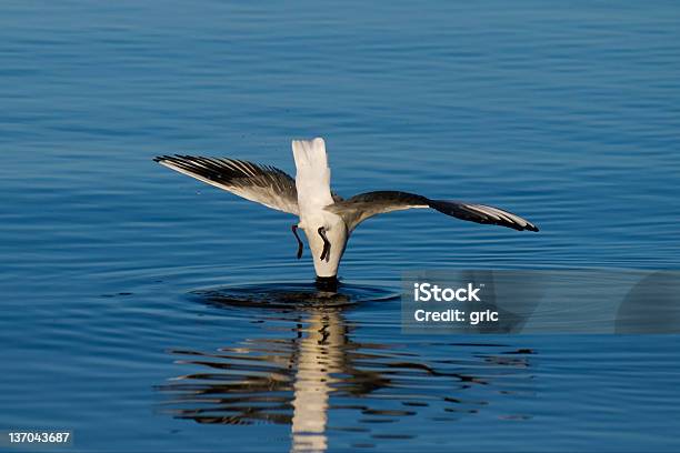
[[[360,193],[324,209],[342,217],[348,228],[353,230],[359,223],[373,215],[413,208],[432,208],[447,215],[470,222],[490,223],[519,231],[539,231],[533,223],[502,209],[460,201],[430,200],[414,193],[397,191]]]

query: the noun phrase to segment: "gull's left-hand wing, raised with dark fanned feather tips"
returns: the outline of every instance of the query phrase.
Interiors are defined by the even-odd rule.
[[[296,215],[299,213],[296,181],[274,167],[193,155],[160,155],[153,160],[267,208]]]

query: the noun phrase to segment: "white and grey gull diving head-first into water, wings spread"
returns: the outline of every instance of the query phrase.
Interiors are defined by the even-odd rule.
[[[303,244],[298,235],[302,230],[311,249],[317,283],[331,288],[338,283],[338,266],[350,235],[361,222],[377,214],[431,208],[470,222],[539,231],[528,220],[486,204],[431,200],[399,191],[366,192],[344,200],[330,188],[323,139],[293,140],[292,153],[294,180],[274,167],[236,159],[176,154],[153,160],[246,200],[297,215],[299,222],[291,226],[298,242],[297,256],[302,256]]]

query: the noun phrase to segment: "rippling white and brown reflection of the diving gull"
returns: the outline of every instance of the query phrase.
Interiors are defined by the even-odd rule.
[[[430,422],[454,421],[488,404],[478,396],[467,397],[466,390],[490,386],[498,397],[522,392],[517,384],[497,386],[508,373],[531,381],[532,351],[528,350],[490,345],[503,351],[461,360],[428,360],[421,355],[422,343],[409,348],[357,342],[359,325],[346,320],[346,311],[354,306],[358,292],[277,290],[262,294],[244,289],[201,293],[212,305],[248,309],[250,314],[252,306],[267,306],[263,316],[258,312],[263,322],[257,325],[268,329],[216,353],[172,350],[172,355],[181,358],[178,363],[197,371],[159,387],[171,395],[166,405],[173,416],[199,423],[289,424],[291,451],[322,452],[328,447],[329,431],[377,439],[414,437],[401,429],[377,434],[373,426],[398,423],[419,412],[426,412]],[[454,352],[454,348],[479,351],[484,345],[444,346]],[[430,379],[423,381],[423,375]],[[331,411],[342,411],[339,419],[344,422],[340,423],[349,419],[349,425],[329,426]],[[347,411],[356,415],[347,416]]]

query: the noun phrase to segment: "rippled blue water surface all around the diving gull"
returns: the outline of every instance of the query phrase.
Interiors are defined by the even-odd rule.
[[[677,2],[4,1],[0,429],[102,452],[679,450],[678,336],[402,335],[391,296],[404,270],[677,270],[679,19]],[[486,202],[541,232],[393,213],[341,266],[366,303],[194,294],[299,286],[311,261],[292,218],[151,158],[292,173],[290,140],[313,135],[342,195]],[[296,436],[306,385],[328,421]]]

